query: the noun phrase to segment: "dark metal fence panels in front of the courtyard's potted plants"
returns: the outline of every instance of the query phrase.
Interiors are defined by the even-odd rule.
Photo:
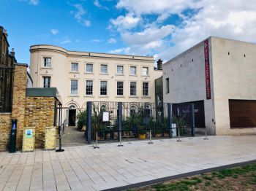
[[[152,138],[194,136],[192,104],[155,104],[138,102],[88,102],[87,141],[146,139],[151,130]],[[109,120],[103,122],[103,112]],[[175,124],[175,125],[173,125]]]

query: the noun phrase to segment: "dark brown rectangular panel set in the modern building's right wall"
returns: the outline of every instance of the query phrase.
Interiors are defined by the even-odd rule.
[[[230,128],[256,127],[256,101],[229,100]]]

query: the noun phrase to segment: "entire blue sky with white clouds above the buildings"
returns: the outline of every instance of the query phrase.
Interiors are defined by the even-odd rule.
[[[1,0],[18,62],[32,44],[154,55],[164,61],[208,36],[255,42],[255,0]]]

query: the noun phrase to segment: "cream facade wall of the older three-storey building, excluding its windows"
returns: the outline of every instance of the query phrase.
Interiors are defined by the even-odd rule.
[[[52,58],[52,66],[45,68],[43,58]],[[78,63],[78,72],[71,71],[71,63]],[[87,74],[86,63],[93,63],[93,74]],[[100,64],[108,65],[108,74],[100,74]],[[116,66],[124,66],[124,75],[116,74]],[[137,66],[137,75],[129,74],[129,67]],[[148,66],[148,76],[142,76],[142,67]],[[154,71],[154,58],[132,55],[111,55],[94,52],[76,52],[50,45],[31,46],[31,77],[34,87],[42,87],[42,77],[51,77],[51,87],[57,87],[63,105],[75,104],[85,108],[87,101],[135,101],[154,102],[154,79],[162,76],[162,71]],[[78,95],[70,95],[70,81],[78,79]],[[86,79],[94,82],[93,95],[86,95]],[[99,83],[108,81],[108,95],[99,95]],[[116,95],[117,81],[124,81],[124,96]],[[129,95],[130,82],[137,82],[137,95]],[[142,95],[142,82],[149,82],[149,95]]]

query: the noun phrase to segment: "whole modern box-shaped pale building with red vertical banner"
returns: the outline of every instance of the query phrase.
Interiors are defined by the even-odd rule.
[[[194,103],[197,130],[256,133],[256,44],[211,36],[163,71],[164,102]]]

